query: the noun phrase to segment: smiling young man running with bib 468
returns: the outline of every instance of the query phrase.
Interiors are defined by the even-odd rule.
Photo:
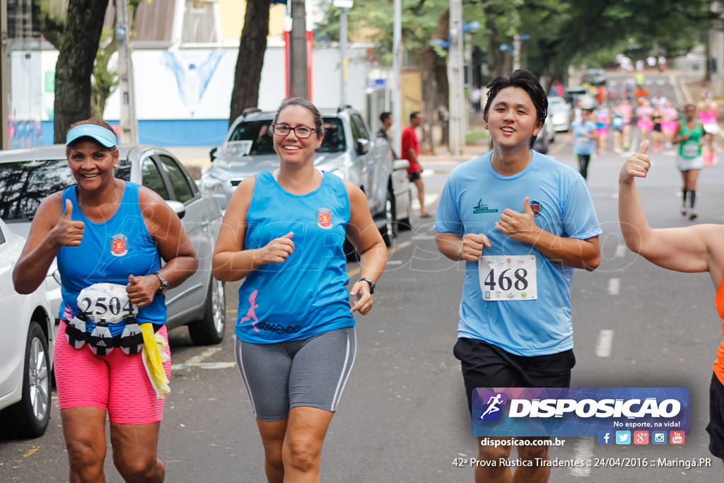
[[[531,151],[548,107],[538,80],[516,70],[488,88],[483,114],[493,151],[452,171],[434,226],[439,251],[467,262],[454,353],[468,406],[476,387],[570,385],[573,269],[593,270],[600,261],[586,181]],[[506,288],[509,261],[516,283]],[[508,445],[479,445],[479,460],[509,457]],[[519,445],[518,457],[534,466],[518,466],[515,476],[506,466],[477,466],[476,482],[547,481],[550,467],[535,463],[548,458],[547,447]]]

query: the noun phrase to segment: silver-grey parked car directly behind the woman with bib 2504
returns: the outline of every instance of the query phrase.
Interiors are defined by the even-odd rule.
[[[166,294],[168,327],[188,325],[197,344],[221,342],[226,317],[224,282],[211,276],[211,256],[222,222],[219,204],[201,193],[168,151],[153,146],[121,145],[118,149],[115,175],[159,193],[181,218],[198,253],[195,274]],[[0,217],[20,235],[28,235],[43,198],[74,184],[63,145],[0,151]]]

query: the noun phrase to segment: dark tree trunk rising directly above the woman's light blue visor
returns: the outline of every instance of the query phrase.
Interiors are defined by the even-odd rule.
[[[55,66],[54,142],[64,143],[74,122],[90,117],[90,75],[108,0],[70,0]]]

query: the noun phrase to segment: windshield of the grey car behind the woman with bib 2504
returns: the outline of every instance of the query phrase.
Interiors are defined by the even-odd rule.
[[[122,180],[130,178],[127,160],[115,171]],[[43,159],[0,164],[0,217],[5,222],[33,219],[46,196],[75,185],[66,159]]]

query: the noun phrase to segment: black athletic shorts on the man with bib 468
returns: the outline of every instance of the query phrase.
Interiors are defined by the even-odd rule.
[[[463,369],[468,409],[476,387],[569,387],[573,349],[547,356],[516,356],[484,340],[460,338],[452,353]]]

